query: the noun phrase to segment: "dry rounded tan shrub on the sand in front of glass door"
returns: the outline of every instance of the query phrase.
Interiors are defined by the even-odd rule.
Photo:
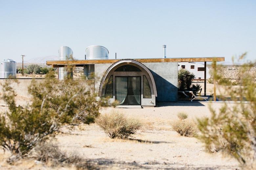
[[[139,120],[114,111],[100,115],[96,118],[96,124],[112,139],[128,138],[142,126]]]

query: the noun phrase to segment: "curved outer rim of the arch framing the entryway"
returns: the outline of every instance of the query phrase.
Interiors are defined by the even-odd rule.
[[[136,60],[133,60],[133,59],[122,59],[122,60],[119,60],[119,61],[115,62],[114,64],[112,64],[112,65],[107,69],[107,71],[105,72],[104,76],[103,76],[102,79],[101,79],[100,86],[99,86],[99,93],[98,93],[98,96],[101,96],[101,94],[102,94],[102,88],[103,88],[105,79],[106,79],[106,77],[108,76],[109,72],[110,72],[113,68],[115,68],[117,65],[119,65],[119,64],[121,64],[121,63],[125,63],[125,62],[126,62],[126,63],[127,63],[127,62],[128,62],[128,63],[133,63],[133,64],[135,64],[135,65],[138,65],[138,66],[140,66],[141,68],[143,68],[143,69],[149,74],[149,76],[150,76],[150,78],[151,78],[151,81],[152,81],[152,84],[153,84],[153,91],[154,91],[154,94],[155,94],[155,96],[157,97],[156,83],[155,83],[155,79],[154,79],[152,73],[150,72],[150,70],[149,70],[145,65],[143,65],[142,63],[140,63],[140,62],[138,62],[138,61],[136,61]]]

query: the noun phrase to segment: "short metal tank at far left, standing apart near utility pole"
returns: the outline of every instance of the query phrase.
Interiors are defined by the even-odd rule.
[[[0,64],[0,78],[16,78],[17,63],[12,59],[4,59]]]

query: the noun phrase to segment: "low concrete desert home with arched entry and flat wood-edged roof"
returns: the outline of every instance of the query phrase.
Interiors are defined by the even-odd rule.
[[[68,51],[68,55],[73,54],[67,46],[60,47],[59,54],[60,51],[61,55],[66,55],[65,51]],[[57,67],[59,74],[65,73],[67,65],[84,67],[84,75],[88,79],[94,79],[98,96],[108,98],[110,104],[118,100],[120,105],[141,106],[156,106],[156,102],[178,100],[178,62],[204,62],[206,70],[207,61],[214,62],[215,65],[217,61],[224,61],[224,57],[108,59],[108,50],[103,46],[89,46],[85,58],[63,60],[62,57],[62,60],[47,61],[46,64]],[[90,76],[92,73],[95,77]],[[204,76],[206,77],[205,71]],[[63,76],[59,76],[59,79],[60,77]],[[206,78],[204,87],[206,89]]]

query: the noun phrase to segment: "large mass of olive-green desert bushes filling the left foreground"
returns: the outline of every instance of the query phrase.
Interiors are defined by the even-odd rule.
[[[2,84],[8,111],[0,113],[0,145],[12,153],[8,162],[27,156],[38,143],[47,140],[60,126],[75,123],[80,115],[90,116],[84,116],[89,123],[91,116],[99,114],[101,100],[96,100],[90,86],[79,88],[78,81],[32,80],[28,89],[32,101],[25,108],[16,107],[11,83],[9,80]]]

